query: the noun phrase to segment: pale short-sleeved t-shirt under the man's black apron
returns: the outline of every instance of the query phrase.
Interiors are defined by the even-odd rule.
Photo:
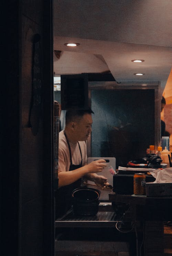
[[[82,152],[83,158],[83,166],[87,163],[87,148],[85,141],[79,141],[76,144],[69,143],[71,147],[71,154],[72,154],[72,164],[78,165],[81,163],[81,155],[79,150]],[[59,146],[58,146],[58,172],[68,172],[70,167],[70,155],[69,155],[69,148],[66,141],[66,137],[64,135],[64,131],[59,133]]]

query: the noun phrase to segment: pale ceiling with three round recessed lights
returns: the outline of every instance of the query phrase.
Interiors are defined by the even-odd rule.
[[[159,81],[164,90],[172,68],[171,0],[54,0],[53,12],[55,75],[110,72],[117,82]]]

